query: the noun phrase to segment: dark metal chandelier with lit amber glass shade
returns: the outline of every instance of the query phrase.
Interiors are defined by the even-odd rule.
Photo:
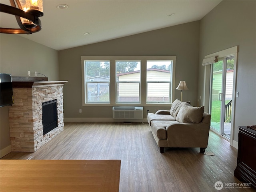
[[[42,29],[38,17],[43,16],[43,0],[10,0],[11,6],[1,3],[1,12],[15,15],[20,28],[2,28],[1,33],[32,34]],[[17,6],[16,6],[17,5]]]

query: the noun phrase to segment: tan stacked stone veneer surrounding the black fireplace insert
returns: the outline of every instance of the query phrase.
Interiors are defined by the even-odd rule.
[[[63,84],[13,88],[9,107],[10,140],[13,152],[35,152],[64,129]],[[42,103],[57,99],[58,127],[43,136]]]

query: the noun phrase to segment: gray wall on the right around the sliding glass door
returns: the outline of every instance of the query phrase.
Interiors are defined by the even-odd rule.
[[[238,126],[256,124],[256,1],[222,1],[200,21],[198,95],[203,95],[205,55],[239,46],[234,140]]]

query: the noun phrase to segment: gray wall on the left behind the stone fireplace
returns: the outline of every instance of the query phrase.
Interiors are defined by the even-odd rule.
[[[0,72],[12,76],[45,74],[49,81],[59,80],[58,51],[14,34],[0,34]],[[38,74],[39,76],[39,74]],[[10,146],[8,106],[0,108],[0,149]]]

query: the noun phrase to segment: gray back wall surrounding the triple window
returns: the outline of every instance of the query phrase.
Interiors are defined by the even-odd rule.
[[[112,118],[111,106],[82,107],[81,56],[177,56],[175,88],[185,80],[189,90],[182,100],[197,105],[199,21],[118,38],[96,44],[59,51],[60,79],[68,80],[64,88],[65,118]],[[175,97],[180,98],[180,90]],[[144,106],[156,112],[164,107]],[[79,113],[82,109],[82,113]],[[165,107],[170,109],[170,106]]]

